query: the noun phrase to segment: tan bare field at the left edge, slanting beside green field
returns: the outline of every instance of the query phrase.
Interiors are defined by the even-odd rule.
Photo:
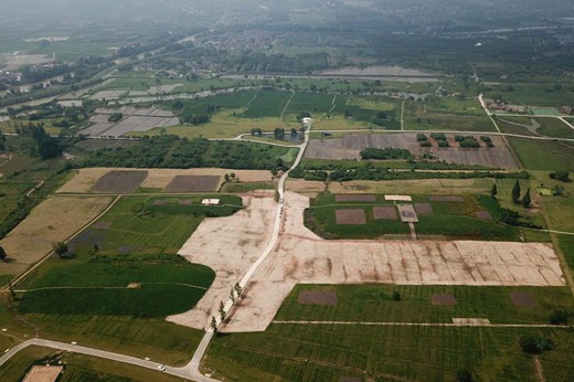
[[[20,275],[50,251],[89,223],[111,202],[110,197],[54,195],[0,241],[13,262],[3,263],[1,275]]]

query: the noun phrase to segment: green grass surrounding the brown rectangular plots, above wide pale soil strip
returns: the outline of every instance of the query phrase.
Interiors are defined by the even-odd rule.
[[[431,201],[426,195],[414,195],[416,203],[429,203],[433,214],[418,214],[416,224],[418,235],[442,235],[448,238],[472,240],[519,240],[518,230],[511,225],[499,223],[501,215],[499,203],[486,195],[463,195],[463,202]],[[376,195],[376,202],[334,201],[334,194],[322,193],[311,201],[310,209],[305,211],[305,224],[325,238],[374,238],[385,234],[410,234],[406,223],[396,220],[375,220],[372,208],[375,205],[393,205]],[[366,224],[337,224],[336,210],[362,209]],[[493,220],[478,219],[476,213],[488,211]]]

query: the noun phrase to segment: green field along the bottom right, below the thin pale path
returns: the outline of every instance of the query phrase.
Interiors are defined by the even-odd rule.
[[[263,333],[217,336],[204,370],[241,381],[453,381],[459,370],[479,381],[538,381],[522,353],[523,335],[554,342],[540,356],[551,381],[574,378],[574,336],[567,329],[272,325]]]

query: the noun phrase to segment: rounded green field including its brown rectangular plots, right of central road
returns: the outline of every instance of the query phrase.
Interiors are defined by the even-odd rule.
[[[325,238],[374,238],[385,234],[407,234],[410,229],[396,220],[393,202],[383,195],[375,200],[355,199],[346,204],[330,193],[321,193],[311,200],[305,211],[305,224]],[[360,197],[360,195],[357,195]],[[456,198],[458,202],[451,202]],[[497,200],[489,195],[428,197],[414,195],[418,205],[419,235],[442,235],[448,238],[518,241],[518,230],[513,225],[529,225],[518,213],[508,223],[508,211],[500,208]],[[359,212],[361,212],[359,216]],[[488,219],[485,219],[488,213]],[[353,216],[351,219],[351,215]],[[529,226],[532,226],[530,223]]]

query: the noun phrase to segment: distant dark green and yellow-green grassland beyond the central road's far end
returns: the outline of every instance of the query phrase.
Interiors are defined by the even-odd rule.
[[[275,127],[298,128],[298,116],[310,113],[313,126],[320,129],[398,129],[400,98],[385,96],[346,96],[300,91],[279,91],[261,88],[220,94],[199,100],[183,100],[184,106],[178,114],[180,119],[192,115],[210,114],[211,120],[198,126],[174,126],[164,130],[182,137],[233,138],[249,132],[252,128],[273,131]],[[210,112],[215,107],[216,112]],[[378,124],[376,116],[385,113]],[[382,124],[382,126],[380,126]],[[135,136],[159,135],[162,128]]]

